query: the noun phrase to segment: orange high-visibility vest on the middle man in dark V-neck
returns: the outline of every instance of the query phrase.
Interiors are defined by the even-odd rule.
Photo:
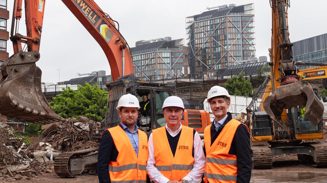
[[[180,181],[193,169],[193,128],[182,126],[175,157],[169,146],[165,126],[153,130],[152,138],[156,168],[165,177]]]

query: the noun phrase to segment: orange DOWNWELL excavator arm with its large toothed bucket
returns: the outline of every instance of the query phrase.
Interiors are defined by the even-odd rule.
[[[19,34],[22,0],[15,0],[10,40],[14,54],[1,66],[0,114],[34,123],[64,120],[48,104],[41,89],[40,42],[46,0],[25,0],[26,36]],[[93,0],[62,0],[80,23],[99,43],[108,58],[112,79],[133,73],[129,46],[110,16]],[[64,40],[63,40],[64,41]],[[22,48],[27,45],[27,52]]]

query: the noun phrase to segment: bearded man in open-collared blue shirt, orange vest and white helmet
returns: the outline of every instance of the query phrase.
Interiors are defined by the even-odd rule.
[[[121,122],[101,135],[97,162],[100,183],[146,183],[149,151],[146,133],[135,125],[139,108],[134,95],[123,95],[118,100]]]

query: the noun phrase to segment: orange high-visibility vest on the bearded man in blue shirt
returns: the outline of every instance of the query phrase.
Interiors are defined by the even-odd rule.
[[[109,175],[111,182],[146,183],[146,161],[149,155],[146,133],[138,130],[139,154],[136,153],[126,132],[116,126],[107,129],[118,151],[117,161],[110,161]]]

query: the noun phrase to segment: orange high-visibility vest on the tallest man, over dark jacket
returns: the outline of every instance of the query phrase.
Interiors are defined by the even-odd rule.
[[[237,157],[236,155],[230,155],[228,153],[237,127],[244,124],[235,119],[231,119],[223,130],[221,130],[212,145],[211,125],[212,124],[204,129],[204,146],[207,157],[203,180],[205,183],[208,181],[210,183],[236,183]]]

